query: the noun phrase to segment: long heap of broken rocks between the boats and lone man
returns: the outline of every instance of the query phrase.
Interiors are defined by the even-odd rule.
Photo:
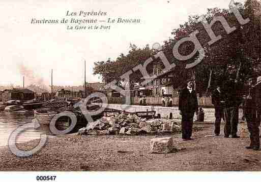
[[[141,119],[135,114],[120,114],[111,117],[103,117],[81,128],[78,134],[92,135],[139,135],[139,134],[162,134],[179,133],[181,127],[173,120],[164,119]]]

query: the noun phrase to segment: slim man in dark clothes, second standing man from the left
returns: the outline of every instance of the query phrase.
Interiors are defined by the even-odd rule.
[[[220,85],[212,92],[212,104],[215,107],[215,135],[220,134],[221,119],[224,120],[224,93],[221,91]]]

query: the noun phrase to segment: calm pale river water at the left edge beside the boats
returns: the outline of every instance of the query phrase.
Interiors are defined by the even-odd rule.
[[[26,123],[33,123],[34,115],[26,115],[24,113],[0,112],[0,146],[8,145],[8,139],[11,133],[23,127]],[[37,129],[27,128],[22,131],[16,139],[17,143],[40,138],[41,134],[51,135],[49,126],[40,126]]]

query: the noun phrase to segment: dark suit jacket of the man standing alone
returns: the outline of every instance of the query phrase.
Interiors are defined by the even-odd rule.
[[[186,113],[198,111],[197,96],[194,90],[191,93],[187,88],[182,90],[179,96],[179,110]]]

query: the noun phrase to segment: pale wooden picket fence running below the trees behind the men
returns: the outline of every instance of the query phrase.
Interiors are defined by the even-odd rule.
[[[107,97],[108,103],[114,103],[114,104],[124,104],[125,103],[125,97]],[[146,103],[148,105],[161,105],[162,97],[146,97]],[[172,103],[173,105],[179,105],[179,97],[172,97]],[[200,106],[212,106],[211,97],[198,97],[198,105]],[[131,97],[131,104],[132,105],[138,105],[139,104],[139,98],[138,97]]]

